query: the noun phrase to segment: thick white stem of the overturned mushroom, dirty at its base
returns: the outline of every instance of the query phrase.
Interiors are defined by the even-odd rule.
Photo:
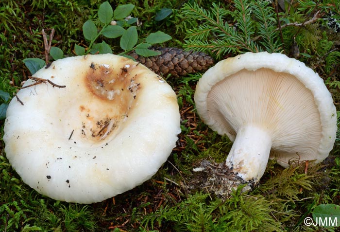
[[[244,125],[237,132],[226,166],[242,179],[258,182],[266,170],[271,147],[270,131],[259,125]]]

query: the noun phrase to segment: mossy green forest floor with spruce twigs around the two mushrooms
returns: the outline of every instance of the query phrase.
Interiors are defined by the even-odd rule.
[[[175,46],[210,54],[216,61],[245,52],[280,52],[299,49],[298,59],[317,71],[332,93],[340,111],[340,33],[327,25],[340,18],[340,3],[292,0],[285,9],[261,0],[110,0],[134,4],[132,16],[139,42],[162,31]],[[2,0],[0,2],[0,104],[13,98],[30,75],[25,58],[44,58],[41,31],[55,29],[52,46],[65,56],[74,55],[75,45],[87,48],[83,25],[91,19],[98,26],[100,0]],[[319,18],[304,26],[296,26]],[[330,16],[333,12],[333,16]],[[167,14],[165,14],[167,13]],[[166,16],[165,16],[166,15]],[[163,18],[161,20],[157,19]],[[278,18],[280,20],[278,20]],[[157,20],[156,20],[157,19]],[[280,22],[280,25],[279,25]],[[289,26],[285,24],[292,23]],[[100,36],[115,53],[123,52],[119,40]],[[202,73],[201,73],[202,74]],[[176,90],[181,110],[194,108],[193,93],[201,74],[168,82]],[[8,96],[6,95],[8,93]],[[193,111],[195,112],[195,111]],[[0,134],[3,136],[3,122]],[[303,219],[320,204],[340,204],[340,132],[336,145],[323,163],[294,163],[284,169],[270,161],[260,185],[250,193],[233,193],[221,201],[202,191],[188,192],[192,168],[201,159],[223,161],[231,147],[198,120],[192,129],[182,120],[182,150],[149,181],[106,201],[80,205],[38,195],[24,184],[0,149],[0,231],[336,231],[339,228],[306,227]],[[205,133],[205,131],[207,131]],[[192,136],[200,137],[195,143]],[[202,149],[202,147],[206,149]]]

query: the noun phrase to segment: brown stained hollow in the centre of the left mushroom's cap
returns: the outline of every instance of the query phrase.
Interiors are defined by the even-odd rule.
[[[85,115],[82,117],[84,125],[91,125],[91,128],[83,127],[83,135],[88,139],[102,140],[111,131],[117,130],[122,119],[128,117],[136,105],[142,85],[138,82],[138,72],[132,71],[138,67],[134,62],[121,63],[122,67],[112,68],[108,64],[92,62],[86,71],[84,81],[87,91],[99,100],[98,104],[102,102],[107,107],[101,115],[94,116],[80,106],[81,113]]]

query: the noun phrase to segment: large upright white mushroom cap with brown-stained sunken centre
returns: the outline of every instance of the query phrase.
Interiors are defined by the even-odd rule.
[[[3,140],[23,181],[57,200],[102,201],[151,178],[180,133],[177,99],[153,71],[128,58],[54,61],[7,109]],[[26,81],[24,86],[33,84]]]

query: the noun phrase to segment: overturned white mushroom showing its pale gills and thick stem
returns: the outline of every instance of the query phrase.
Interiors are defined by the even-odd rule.
[[[337,130],[333,99],[317,73],[284,54],[246,53],[204,73],[197,111],[234,144],[226,164],[245,180],[262,177],[268,158],[323,161]]]

